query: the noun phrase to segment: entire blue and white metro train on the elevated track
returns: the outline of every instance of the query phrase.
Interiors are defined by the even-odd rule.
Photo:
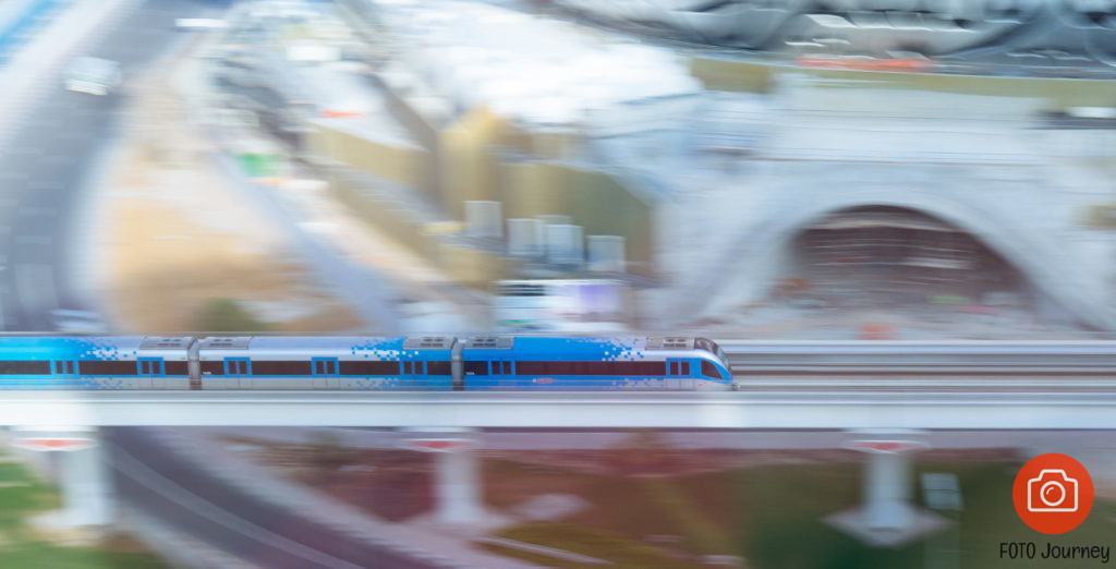
[[[733,388],[692,337],[0,336],[0,389]]]

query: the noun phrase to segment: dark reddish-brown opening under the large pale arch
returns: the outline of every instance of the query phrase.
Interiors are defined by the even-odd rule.
[[[810,308],[1030,311],[1018,269],[969,232],[915,210],[863,206],[831,213],[791,242],[772,298]]]

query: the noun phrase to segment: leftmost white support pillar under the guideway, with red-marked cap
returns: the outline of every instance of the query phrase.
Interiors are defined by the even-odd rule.
[[[62,509],[47,514],[42,519],[45,524],[67,529],[113,522],[112,479],[96,430],[17,430],[12,432],[12,445],[57,455],[54,471],[61,490]]]

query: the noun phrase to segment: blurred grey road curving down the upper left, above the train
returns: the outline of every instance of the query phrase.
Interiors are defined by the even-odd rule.
[[[228,3],[144,2],[83,51],[121,62],[121,93],[70,93],[56,80],[46,84],[33,108],[22,109],[25,118],[0,153],[0,328],[48,330],[50,310],[84,308],[69,281],[71,240],[79,234],[81,194],[112,147],[127,104],[127,78],[189,37],[175,31],[175,18],[214,15]]]

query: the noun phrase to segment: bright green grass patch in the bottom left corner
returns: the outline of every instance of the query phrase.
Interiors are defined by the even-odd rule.
[[[59,505],[54,489],[32,479],[22,465],[0,463],[0,569],[166,567],[124,538],[110,540],[102,548],[60,547],[37,536],[26,524],[27,518]]]

